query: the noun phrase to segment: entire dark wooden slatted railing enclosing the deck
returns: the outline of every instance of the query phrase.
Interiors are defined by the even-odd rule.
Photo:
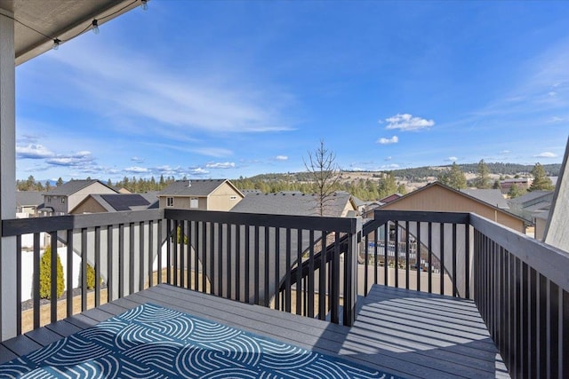
[[[378,210],[374,217],[361,225],[359,218],[154,209],[3,220],[2,233],[16,237],[17,252],[22,235],[34,236],[33,328],[39,233],[47,232],[53,250],[61,245],[68,261],[81,257],[79,272],[68,265],[65,273],[68,288],[82,277],[79,296],[68,291],[65,315],[76,302],[91,306],[87,263],[102,278],[92,306],[164,280],[345,325],[355,320],[357,296],[381,283],[474,299],[513,376],[569,377],[569,254],[474,214]],[[20,284],[15,290],[21,299]],[[51,297],[54,321],[62,305]],[[20,314],[20,301],[2,301]]]

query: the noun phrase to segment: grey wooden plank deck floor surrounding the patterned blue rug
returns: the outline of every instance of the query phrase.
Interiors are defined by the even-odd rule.
[[[404,377],[508,377],[469,300],[373,286],[352,328],[159,285],[0,344],[0,363],[152,303]],[[1,371],[1,368],[0,368]]]

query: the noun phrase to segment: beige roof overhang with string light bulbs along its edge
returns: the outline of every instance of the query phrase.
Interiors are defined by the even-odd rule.
[[[16,66],[139,6],[141,0],[0,0],[0,13],[14,19]]]

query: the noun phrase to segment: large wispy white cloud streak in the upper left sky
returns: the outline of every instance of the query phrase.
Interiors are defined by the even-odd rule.
[[[112,114],[157,122],[152,132],[162,134],[163,125],[215,133],[293,129],[283,115],[292,96],[269,88],[269,83],[253,87],[247,77],[231,70],[214,77],[175,73],[158,59],[133,51],[107,50],[100,59],[99,51],[69,43],[65,53],[51,57],[68,67],[67,76],[76,87],[107,104]]]

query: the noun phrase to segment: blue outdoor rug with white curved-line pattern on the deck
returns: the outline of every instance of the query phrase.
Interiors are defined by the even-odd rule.
[[[154,304],[0,365],[0,378],[395,378]]]

